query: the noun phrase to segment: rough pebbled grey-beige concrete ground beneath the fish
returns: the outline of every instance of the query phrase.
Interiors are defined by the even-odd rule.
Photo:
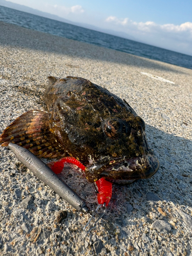
[[[113,186],[105,218],[86,236],[81,228],[89,216],[0,147],[0,254],[192,255],[192,70],[2,22],[0,27],[0,132],[22,113],[44,110],[47,76],[81,76],[130,103],[160,161],[151,179]],[[83,174],[67,166],[60,177],[96,208]]]

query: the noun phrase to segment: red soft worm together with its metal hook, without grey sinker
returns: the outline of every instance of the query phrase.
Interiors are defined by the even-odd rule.
[[[62,172],[62,169],[63,169],[65,163],[72,163],[72,164],[78,166],[83,171],[86,169],[86,166],[84,166],[81,162],[79,162],[74,157],[61,158],[57,162],[52,162],[52,163],[48,164],[48,166],[52,169],[52,171],[55,174],[60,174]],[[86,228],[89,225],[91,225],[90,224],[91,221],[93,222],[93,224],[91,225],[89,230],[86,231],[87,233],[90,232],[93,228],[95,228],[97,222],[104,216],[105,211],[106,211],[106,206],[108,206],[108,204],[111,200],[111,197],[112,197],[112,183],[110,181],[107,181],[104,178],[101,178],[98,181],[96,181],[96,185],[97,185],[98,190],[96,189],[95,184],[94,184],[94,189],[95,189],[95,192],[97,193],[97,201],[99,203],[99,206],[95,210],[91,211],[92,216],[91,216],[90,220],[88,221],[87,225],[84,226],[84,228],[83,228],[83,230],[86,231]],[[104,209],[102,214],[100,214],[98,211],[100,207],[103,207],[103,209]]]

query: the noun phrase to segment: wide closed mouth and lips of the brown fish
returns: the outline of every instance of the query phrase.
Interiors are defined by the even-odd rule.
[[[91,182],[105,178],[112,182],[122,183],[123,180],[134,181],[150,178],[157,172],[158,168],[159,161],[154,155],[142,155],[129,159],[113,158],[108,164],[106,162],[97,164],[96,162],[94,166],[88,167],[86,176]]]

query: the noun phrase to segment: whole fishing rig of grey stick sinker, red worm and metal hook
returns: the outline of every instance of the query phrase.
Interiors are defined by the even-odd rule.
[[[62,158],[57,162],[51,162],[46,165],[40,159],[38,159],[34,154],[24,147],[18,146],[14,143],[9,143],[8,147],[15,154],[18,160],[29,168],[36,177],[38,177],[42,182],[51,187],[61,198],[66,200],[78,211],[83,212],[83,214],[91,214],[91,218],[84,226],[83,230],[87,233],[96,227],[98,221],[104,216],[106,211],[106,205],[108,205],[112,196],[112,183],[101,178],[97,181],[98,186],[98,202],[99,206],[95,210],[89,209],[86,202],[83,201],[76,193],[73,191],[65,182],[59,179],[56,174],[62,172],[64,164],[73,163],[82,170],[86,169],[82,163],[80,163],[74,157]],[[96,189],[96,188],[95,188]],[[99,212],[99,208],[103,208],[103,212]],[[90,226],[90,228],[89,228]],[[89,229],[87,231],[87,228]]]

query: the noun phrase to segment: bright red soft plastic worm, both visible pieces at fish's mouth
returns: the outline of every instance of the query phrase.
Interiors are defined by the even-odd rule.
[[[81,168],[83,171],[86,169],[86,166],[84,166],[74,157],[61,158],[57,162],[49,163],[48,166],[52,169],[52,171],[55,174],[60,174],[65,163],[73,163],[74,165],[77,165],[79,168]],[[104,178],[101,178],[98,181],[96,181],[96,184],[98,187],[98,203],[102,205],[105,203],[105,206],[108,206],[112,197],[112,183],[110,181],[105,180]]]

